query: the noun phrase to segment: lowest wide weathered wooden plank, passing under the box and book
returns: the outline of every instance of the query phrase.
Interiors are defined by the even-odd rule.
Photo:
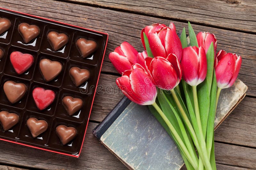
[[[96,123],[89,123],[78,159],[0,141],[0,164],[24,166],[28,169],[127,169],[92,135],[91,131],[96,126]],[[215,152],[217,163],[256,168],[256,149],[215,142]],[[219,169],[224,170],[225,166]]]

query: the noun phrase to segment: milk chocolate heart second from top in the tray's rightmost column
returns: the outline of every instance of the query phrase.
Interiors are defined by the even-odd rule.
[[[78,67],[70,68],[69,75],[72,81],[75,83],[76,87],[80,86],[90,78],[89,70],[80,69]]]

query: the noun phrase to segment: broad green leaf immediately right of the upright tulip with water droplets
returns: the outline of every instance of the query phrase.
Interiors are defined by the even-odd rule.
[[[214,48],[213,43],[211,43],[207,54],[207,74],[206,78],[202,83],[197,86],[197,98],[200,112],[200,119],[202,122],[203,134],[206,135],[206,128],[208,122],[208,114],[210,108],[210,92],[212,87],[212,75],[213,75],[213,65],[214,65]]]

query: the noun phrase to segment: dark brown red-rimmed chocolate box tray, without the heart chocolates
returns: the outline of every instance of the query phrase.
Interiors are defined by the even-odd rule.
[[[4,51],[4,56],[0,60],[0,111],[16,113],[20,117],[19,123],[9,131],[4,131],[2,126],[0,127],[0,140],[79,157],[99,80],[108,34],[2,8],[0,8],[0,17],[7,18],[12,23],[11,28],[0,35],[0,48]],[[18,32],[18,25],[21,23],[37,25],[40,28],[39,36],[25,44]],[[52,50],[47,40],[47,33],[50,31],[68,35],[68,43],[57,52]],[[76,48],[76,40],[79,38],[94,40],[98,45],[97,51],[86,59],[82,58]],[[15,72],[10,62],[10,54],[13,51],[29,53],[34,57],[33,65],[21,75]],[[50,82],[44,81],[40,73],[39,61],[44,58],[59,61],[63,65],[61,73]],[[91,73],[89,80],[80,87],[76,87],[69,76],[68,71],[71,67],[89,70]],[[26,95],[14,104],[8,101],[3,90],[4,82],[8,80],[24,83],[28,87]],[[39,110],[33,100],[32,91],[36,87],[53,90],[56,94],[54,102],[44,110]],[[61,102],[64,96],[83,99],[83,108],[73,116],[69,116]],[[45,120],[48,123],[48,129],[33,138],[26,125],[29,117]],[[78,132],[76,138],[67,145],[62,145],[56,135],[56,127],[60,124],[72,126]]]

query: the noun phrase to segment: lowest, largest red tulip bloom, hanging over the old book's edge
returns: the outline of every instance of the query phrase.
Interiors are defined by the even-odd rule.
[[[117,86],[131,101],[140,105],[151,105],[156,101],[157,90],[147,72],[136,64],[116,79]]]

